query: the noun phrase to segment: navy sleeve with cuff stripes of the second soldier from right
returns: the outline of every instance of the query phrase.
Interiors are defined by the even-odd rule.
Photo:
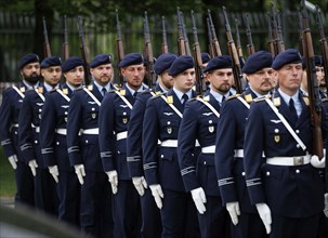
[[[222,201],[237,201],[234,180],[234,160],[237,142],[237,121],[231,102],[223,104],[215,140],[215,171]]]

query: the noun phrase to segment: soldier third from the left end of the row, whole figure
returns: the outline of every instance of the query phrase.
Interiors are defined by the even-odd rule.
[[[67,154],[67,114],[73,92],[83,81],[83,62],[70,57],[64,62],[62,70],[66,82],[45,95],[40,122],[41,151],[44,164],[58,183],[58,220],[79,227],[80,184],[70,167]],[[51,69],[51,68],[49,68]]]

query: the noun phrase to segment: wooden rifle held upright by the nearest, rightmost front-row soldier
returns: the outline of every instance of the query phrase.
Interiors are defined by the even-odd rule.
[[[307,92],[312,123],[313,155],[316,155],[319,159],[322,159],[324,157],[322,134],[322,101],[319,95],[319,87],[316,80],[315,57],[312,44],[311,30],[309,27],[307,11],[305,9],[304,0],[302,0],[302,6],[303,53],[307,71]]]

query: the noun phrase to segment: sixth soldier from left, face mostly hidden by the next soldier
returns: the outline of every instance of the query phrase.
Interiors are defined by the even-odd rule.
[[[159,55],[154,65],[155,74],[158,76],[157,84],[152,90],[146,90],[136,96],[136,101],[131,110],[128,124],[127,138],[127,158],[129,174],[132,177],[133,185],[141,196],[142,209],[142,228],[141,233],[144,238],[160,237],[161,222],[160,213],[152,196],[150,189],[144,178],[143,158],[142,158],[142,130],[144,114],[147,100],[159,93],[167,93],[173,85],[173,78],[169,76],[169,68],[178,56],[172,53]],[[146,119],[147,120],[147,119]]]

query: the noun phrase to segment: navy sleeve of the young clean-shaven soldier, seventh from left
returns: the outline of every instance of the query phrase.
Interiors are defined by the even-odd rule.
[[[158,158],[157,158],[157,142],[159,138],[159,122],[156,111],[155,100],[147,101],[145,118],[143,122],[143,166],[144,173],[148,185],[159,184],[158,181]]]

